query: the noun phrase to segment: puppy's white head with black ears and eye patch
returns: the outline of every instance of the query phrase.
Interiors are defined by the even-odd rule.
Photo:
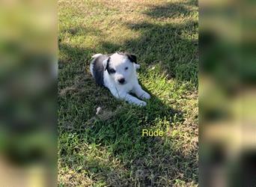
[[[135,69],[138,68],[136,62],[135,55],[116,52],[103,61],[103,66],[116,84],[125,85],[131,80],[132,76],[135,76]]]

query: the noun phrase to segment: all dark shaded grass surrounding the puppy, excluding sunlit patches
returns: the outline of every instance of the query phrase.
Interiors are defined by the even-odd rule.
[[[190,10],[185,4],[171,3],[152,7],[145,14],[153,18],[174,18],[180,11],[189,13]],[[197,150],[184,155],[182,150],[175,147],[173,141],[177,140],[173,135],[165,135],[162,138],[141,136],[142,129],[153,129],[156,126],[166,131],[167,128],[172,128],[170,122],[174,120],[183,123],[183,112],[166,105],[153,93],[150,93],[152,98],[145,108],[118,101],[107,89],[97,87],[87,71],[91,55],[98,52],[127,51],[138,54],[138,59],[141,59],[143,65],[141,71],[147,65],[159,64],[162,72],[168,74],[168,78],[181,82],[192,81],[196,86],[198,42],[186,36],[195,34],[197,25],[197,22],[165,25],[127,22],[129,29],[141,31],[141,37],[120,44],[103,41],[97,52],[60,42],[59,49],[65,57],[59,63],[59,88],[74,88],[59,96],[58,101],[63,108],[67,108],[67,113],[72,113],[73,107],[76,108],[75,113],[61,117],[67,123],[72,123],[72,128],[67,129],[65,124],[61,123],[60,133],[76,132],[81,139],[86,139],[86,144],[101,144],[111,150],[112,158],[121,160],[126,168],[123,171],[110,165],[103,166],[95,158],[83,165],[84,170],[97,176],[94,180],[103,180],[109,186],[171,186],[175,180],[177,185],[183,186],[184,184],[179,182],[180,178],[186,183],[198,183]],[[71,35],[82,34],[82,29],[84,28],[75,28],[67,32]],[[85,29],[86,32],[88,29]],[[73,102],[73,105],[70,102]],[[103,114],[96,116],[98,106],[103,108]],[[157,126],[165,120],[168,122],[165,126]],[[64,157],[65,151],[61,150],[59,156]],[[67,161],[66,164],[69,168],[74,166],[73,162]],[[79,162],[76,164],[79,165]]]

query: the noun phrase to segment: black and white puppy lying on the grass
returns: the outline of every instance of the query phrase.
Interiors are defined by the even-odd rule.
[[[141,89],[138,84],[136,56],[124,52],[112,55],[96,54],[92,56],[90,64],[91,75],[97,84],[109,88],[109,91],[118,99],[124,99],[135,105],[147,105],[140,99],[150,99],[150,94]],[[130,95],[135,93],[138,98]]]

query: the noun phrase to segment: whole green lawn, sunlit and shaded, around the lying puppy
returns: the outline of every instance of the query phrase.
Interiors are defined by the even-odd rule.
[[[198,186],[197,2],[64,0],[58,14],[59,186]],[[137,56],[146,107],[91,78],[91,55],[115,51]]]

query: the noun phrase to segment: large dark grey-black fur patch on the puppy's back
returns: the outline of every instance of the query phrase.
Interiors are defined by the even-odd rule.
[[[97,82],[97,84],[101,86],[104,86],[103,76],[105,70],[103,67],[103,61],[106,60],[106,58],[109,58],[109,55],[100,55],[94,59],[94,79],[95,82]],[[109,67],[109,61],[107,67]]]

